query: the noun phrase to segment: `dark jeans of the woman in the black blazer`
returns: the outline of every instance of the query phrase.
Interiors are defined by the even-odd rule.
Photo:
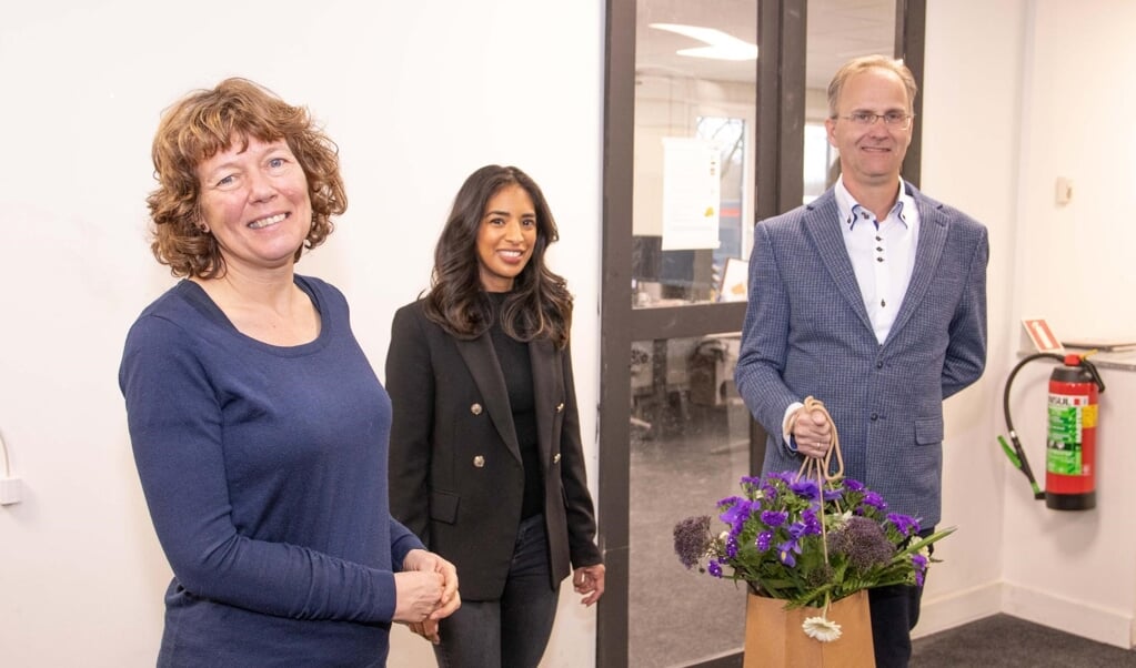
[[[461,574],[458,574],[460,579]],[[438,625],[434,657],[441,668],[536,668],[552,635],[560,601],[549,584],[544,516],[520,523],[499,601],[462,601]]]

